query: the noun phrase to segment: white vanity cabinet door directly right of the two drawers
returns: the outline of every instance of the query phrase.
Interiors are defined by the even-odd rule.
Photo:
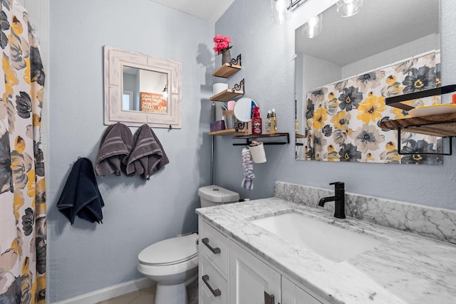
[[[264,304],[280,302],[280,273],[233,241],[229,243],[229,303]],[[265,293],[274,302],[265,302]]]

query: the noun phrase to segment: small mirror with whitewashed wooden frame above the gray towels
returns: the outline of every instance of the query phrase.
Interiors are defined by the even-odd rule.
[[[178,61],[110,46],[105,53],[105,125],[181,127]]]

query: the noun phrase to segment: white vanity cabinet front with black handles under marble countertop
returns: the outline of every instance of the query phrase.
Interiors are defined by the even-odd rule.
[[[321,303],[201,216],[198,276],[199,304]]]

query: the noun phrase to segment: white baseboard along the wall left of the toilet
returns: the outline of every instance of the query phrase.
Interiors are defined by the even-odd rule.
[[[66,299],[54,304],[95,304],[104,300],[108,300],[110,298],[118,297],[119,295],[125,295],[125,293],[133,293],[135,290],[146,288],[152,284],[154,284],[154,282],[148,278],[138,278],[133,281],[128,281],[125,283],[120,283],[118,285],[95,290],[84,295],[78,295],[75,298]]]

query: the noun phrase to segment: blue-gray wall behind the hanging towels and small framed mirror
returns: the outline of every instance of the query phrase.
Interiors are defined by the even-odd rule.
[[[146,246],[197,229],[197,189],[209,184],[214,23],[149,0],[50,2],[48,302],[140,278]],[[56,203],[71,164],[95,162],[103,125],[103,46],[182,62],[182,129],[155,134],[170,159],[148,182],[98,178],[103,224],[76,219]],[[210,81],[207,83],[207,81]],[[137,128],[131,128],[133,132]]]

